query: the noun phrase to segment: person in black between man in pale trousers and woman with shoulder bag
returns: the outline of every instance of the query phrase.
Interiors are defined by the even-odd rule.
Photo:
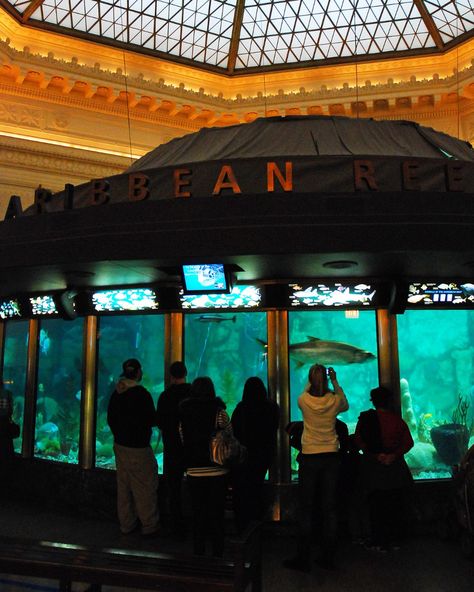
[[[183,362],[170,366],[170,386],[158,398],[156,421],[163,438],[163,476],[165,481],[165,513],[171,519],[175,534],[183,534],[184,520],[181,484],[184,475],[183,444],[179,435],[179,406],[189,396],[191,385]]]

